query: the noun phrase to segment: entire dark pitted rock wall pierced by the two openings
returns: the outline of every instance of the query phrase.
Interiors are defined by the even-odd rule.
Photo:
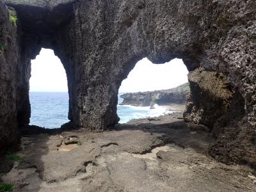
[[[222,161],[252,163],[256,149],[255,1],[4,3],[18,13],[20,42],[13,49],[20,48],[20,62],[18,66],[8,65],[11,71],[6,75],[12,76],[12,68],[19,71],[14,73],[19,89],[12,92],[14,95],[3,94],[10,100],[7,103],[18,101],[17,109],[13,107],[18,119],[12,122],[3,115],[1,121],[29,122],[30,60],[41,47],[54,49],[67,72],[68,118],[78,127],[98,131],[118,122],[118,88],[137,61],[147,57],[153,63],[164,63],[182,58],[190,71],[186,120],[212,127],[217,139],[213,156]],[[7,17],[3,17],[1,26],[9,25],[8,30],[15,33]],[[11,36],[12,41],[15,36]],[[15,63],[16,58],[8,62]],[[8,83],[8,79],[1,79],[1,84]],[[234,117],[234,122],[227,120],[228,116]]]

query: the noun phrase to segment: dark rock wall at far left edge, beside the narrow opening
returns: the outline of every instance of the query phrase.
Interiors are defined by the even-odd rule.
[[[16,26],[8,8],[0,1],[0,151],[17,142],[17,98],[19,92],[19,47]]]

